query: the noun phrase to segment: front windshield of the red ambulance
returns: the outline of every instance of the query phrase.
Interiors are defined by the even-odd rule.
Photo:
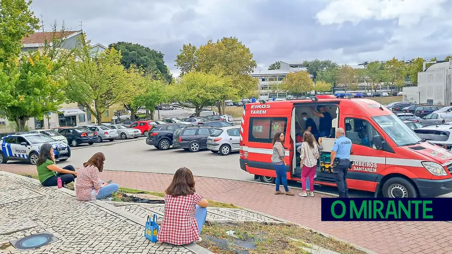
[[[415,145],[421,142],[419,136],[394,114],[374,116],[372,118],[399,147]]]

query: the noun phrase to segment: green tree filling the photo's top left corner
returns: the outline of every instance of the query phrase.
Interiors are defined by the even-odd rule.
[[[16,59],[22,38],[39,28],[39,19],[30,10],[31,1],[0,1],[0,63]]]

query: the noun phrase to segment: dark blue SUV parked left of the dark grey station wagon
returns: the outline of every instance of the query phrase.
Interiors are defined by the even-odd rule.
[[[188,126],[183,123],[170,123],[155,125],[149,136],[146,138],[146,144],[154,146],[159,150],[168,150],[173,145],[173,134],[179,128]]]

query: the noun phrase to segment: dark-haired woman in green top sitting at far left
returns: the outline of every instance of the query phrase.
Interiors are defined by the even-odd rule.
[[[77,177],[77,172],[71,165],[64,168],[55,165],[55,154],[50,144],[42,145],[38,156],[37,170],[39,181],[46,187],[57,186],[58,177],[61,178],[63,184],[71,183]]]

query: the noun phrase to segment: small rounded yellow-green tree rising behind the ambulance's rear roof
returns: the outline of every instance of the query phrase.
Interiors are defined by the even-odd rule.
[[[314,84],[307,71],[291,72],[281,83],[281,88],[289,93],[300,95],[314,90]]]

